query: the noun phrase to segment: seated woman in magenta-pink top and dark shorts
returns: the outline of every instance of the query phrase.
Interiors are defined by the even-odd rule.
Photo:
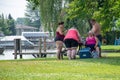
[[[91,51],[96,50],[99,53],[98,39],[92,31],[88,32],[88,37],[86,38],[86,47],[90,47]]]

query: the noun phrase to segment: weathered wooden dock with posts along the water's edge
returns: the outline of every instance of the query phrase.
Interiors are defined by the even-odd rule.
[[[38,57],[46,57],[47,54],[55,54],[56,50],[46,50],[46,37],[43,38],[44,41],[42,42],[42,38],[39,39],[39,44],[38,44],[38,51],[34,50],[31,52],[25,51],[22,52],[22,48],[21,48],[21,40],[20,39],[15,39],[15,45],[14,45],[14,59],[17,59],[17,55],[20,56],[20,59],[22,59],[22,55],[33,55],[35,58]],[[42,45],[44,44],[43,49],[42,49]],[[36,51],[36,52],[35,52]],[[65,53],[65,51],[62,51],[62,53]]]

